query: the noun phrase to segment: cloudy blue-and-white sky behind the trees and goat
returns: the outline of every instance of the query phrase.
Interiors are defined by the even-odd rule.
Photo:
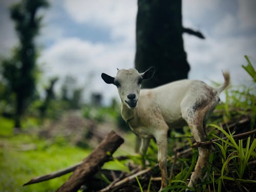
[[[0,0],[0,56],[8,56],[17,44],[8,7],[16,0]],[[116,68],[134,67],[136,0],[50,0],[41,9],[42,28],[36,42],[41,86],[59,76],[58,90],[66,75],[84,87],[84,100],[91,93],[104,95],[104,102],[118,97],[115,86],[105,84],[102,72],[115,76]],[[190,64],[189,79],[223,82],[228,70],[236,86],[251,82],[241,67],[248,55],[256,64],[255,0],[183,0],[183,26],[200,30],[206,39],[183,34]],[[57,91],[56,90],[56,91]]]

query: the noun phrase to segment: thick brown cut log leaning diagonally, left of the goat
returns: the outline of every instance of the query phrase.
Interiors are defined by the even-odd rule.
[[[99,146],[83,160],[81,165],[75,169],[68,181],[62,184],[57,191],[77,191],[89,177],[98,171],[104,162],[109,160],[123,141],[123,138],[117,135],[114,131],[106,135]]]

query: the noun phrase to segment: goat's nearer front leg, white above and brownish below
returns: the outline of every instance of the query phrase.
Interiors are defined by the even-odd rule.
[[[158,163],[159,168],[161,170],[161,188],[159,191],[162,190],[162,188],[166,187],[168,185],[168,176],[167,176],[167,131],[168,128],[165,130],[158,131],[156,134],[156,141],[158,145]]]

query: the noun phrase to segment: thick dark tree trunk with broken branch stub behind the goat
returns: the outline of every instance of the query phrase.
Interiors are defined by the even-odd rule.
[[[181,0],[138,0],[135,67],[139,71],[154,66],[156,73],[143,87],[152,88],[187,78],[189,65],[182,33],[204,36],[183,28]]]

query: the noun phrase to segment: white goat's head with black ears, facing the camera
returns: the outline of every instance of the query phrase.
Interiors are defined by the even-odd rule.
[[[134,109],[139,99],[142,80],[151,78],[154,73],[155,69],[152,67],[143,73],[139,73],[136,69],[121,69],[117,70],[116,77],[111,77],[105,73],[102,73],[101,77],[106,83],[115,84],[121,101],[129,109]]]

